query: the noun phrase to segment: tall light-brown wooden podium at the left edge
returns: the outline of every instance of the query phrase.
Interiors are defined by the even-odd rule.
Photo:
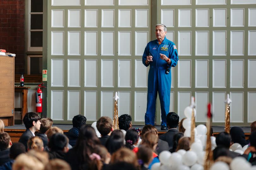
[[[14,57],[0,55],[0,119],[14,125]]]

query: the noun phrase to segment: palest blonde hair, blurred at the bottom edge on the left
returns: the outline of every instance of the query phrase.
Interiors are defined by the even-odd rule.
[[[43,170],[44,165],[35,157],[20,154],[12,165],[13,170]]]

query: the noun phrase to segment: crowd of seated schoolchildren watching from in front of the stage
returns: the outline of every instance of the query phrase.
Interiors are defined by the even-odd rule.
[[[93,127],[85,125],[84,116],[77,115],[73,120],[73,128],[66,133],[78,135],[77,138],[75,138],[76,135],[70,136],[73,140],[71,144],[74,145],[72,149],[70,149],[69,138],[63,131],[58,127],[51,127],[51,119],[40,119],[38,114],[33,112],[24,116],[26,131],[21,136],[20,143],[12,145],[9,134],[0,131],[0,170],[149,170],[154,163],[160,162],[158,154],[163,150],[170,149],[170,152],[180,149],[190,150],[191,138],[184,137],[182,132],[178,132],[179,116],[174,112],[167,115],[169,131],[160,135],[159,138],[154,126],[144,126],[139,146],[137,143],[140,136],[137,130],[131,128],[131,118],[127,114],[120,116],[119,126],[124,122],[121,125],[122,129],[114,131],[111,118],[101,117],[96,123],[101,138],[97,137]],[[180,125],[181,122],[182,120]],[[1,125],[0,121],[0,128],[3,129],[3,127],[4,124]],[[221,132],[216,136],[217,147],[213,150],[214,160],[230,164],[236,156],[243,156],[252,165],[256,165],[255,128],[256,121],[251,125],[252,133],[248,141],[250,145],[243,155],[229,150],[232,143],[239,143],[242,146],[247,144],[242,129],[232,127],[230,134]],[[37,130],[39,132],[35,136]],[[45,137],[48,145],[44,148]],[[26,144],[23,144],[25,141],[27,141]],[[26,150],[28,152],[24,154]]]

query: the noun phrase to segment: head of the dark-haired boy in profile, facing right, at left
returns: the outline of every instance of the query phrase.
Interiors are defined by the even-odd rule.
[[[41,118],[37,113],[34,112],[28,112],[25,114],[23,118],[23,123],[25,124],[26,128],[30,128],[32,126],[35,126],[36,130],[40,129],[41,122],[39,121]]]

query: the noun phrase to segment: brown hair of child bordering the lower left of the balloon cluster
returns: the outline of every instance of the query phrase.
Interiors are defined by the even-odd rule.
[[[153,150],[147,146],[142,145],[139,147],[139,150],[137,152],[137,158],[141,167],[143,167],[145,163],[150,163],[150,161],[152,160],[152,152]]]

